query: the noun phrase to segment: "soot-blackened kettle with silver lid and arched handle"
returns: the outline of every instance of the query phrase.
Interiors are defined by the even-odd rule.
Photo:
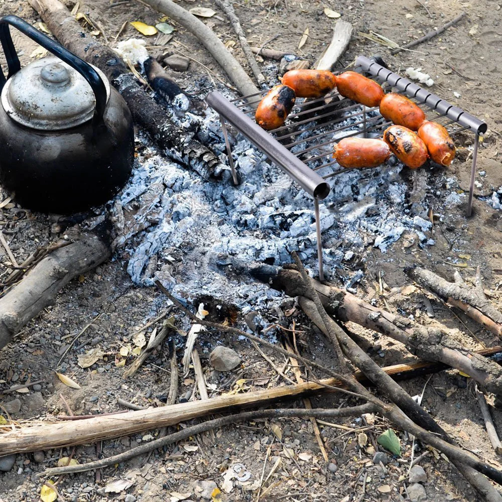
[[[54,54],[23,69],[9,25]],[[96,67],[17,16],[0,19],[0,183],[23,207],[70,214],[102,204],[131,175],[131,112]]]

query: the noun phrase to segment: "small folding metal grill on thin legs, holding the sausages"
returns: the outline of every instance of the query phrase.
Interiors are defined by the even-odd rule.
[[[359,56],[351,70],[374,79],[386,91],[392,89],[394,92],[406,94],[424,110],[428,120],[435,120],[445,126],[450,136],[461,131],[470,131],[474,134],[467,206],[467,215],[470,216],[479,136],[486,132],[486,123],[390,71],[377,61],[379,61],[377,58],[369,59]],[[383,61],[381,62],[383,63]],[[386,121],[380,115],[378,107],[366,108],[334,92],[319,99],[303,100],[301,103],[299,102],[301,100],[297,99],[297,103],[288,115],[284,126],[273,131],[264,131],[255,122],[254,113],[262,95],[266,92],[230,101],[217,91],[213,91],[206,96],[206,102],[220,115],[221,129],[225,138],[234,184],[237,184],[238,181],[228,141],[226,122],[266,154],[271,161],[276,163],[313,197],[319,277],[323,280],[319,200],[326,198],[329,194],[330,187],[326,180],[339,173],[347,172],[347,169],[339,168],[336,161],[333,160],[333,144],[350,136],[382,136],[383,131],[392,122]],[[357,129],[354,130],[354,128]]]

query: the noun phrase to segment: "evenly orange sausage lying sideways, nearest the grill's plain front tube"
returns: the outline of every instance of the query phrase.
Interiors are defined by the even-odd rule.
[[[344,138],[333,153],[336,162],[345,168],[380,166],[390,156],[391,150],[385,141],[366,138]]]

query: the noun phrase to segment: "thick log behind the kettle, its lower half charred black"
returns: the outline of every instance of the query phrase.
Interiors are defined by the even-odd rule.
[[[118,55],[89,37],[59,0],[29,2],[62,45],[104,72],[126,100],[135,122],[152,137],[160,150],[171,159],[189,166],[203,178],[221,176],[223,167],[213,152],[191,139],[186,129],[175,124],[165,110],[140,87]]]

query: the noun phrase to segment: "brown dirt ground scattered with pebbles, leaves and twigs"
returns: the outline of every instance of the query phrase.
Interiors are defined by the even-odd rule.
[[[74,6],[72,2],[66,2],[66,5],[70,10]],[[205,22],[223,42],[236,40],[224,14],[212,2],[182,1],[180,5],[186,8],[213,8],[217,15],[206,19]],[[480,185],[476,187],[475,196],[489,197],[502,185],[501,118],[498,113],[501,106],[499,85],[502,67],[502,10],[497,0],[325,0],[322,3],[305,0],[249,0],[235,3],[234,6],[251,45],[261,46],[274,38],[267,47],[296,53],[311,60],[316,59],[331,39],[334,20],[323,13],[324,7],[339,12],[341,19],[353,24],[354,34],[348,50],[335,69],[341,70],[359,54],[381,54],[389,67],[398,73],[409,66],[421,67],[435,80],[432,87],[435,94],[488,123],[489,130],[480,146],[477,167],[477,172],[484,171],[485,175],[476,176]],[[399,44],[405,44],[443,25],[462,11],[465,11],[467,16],[458,26],[419,45],[416,51],[404,51],[396,56],[392,56],[387,47],[359,35],[359,32],[367,33],[372,30]],[[162,17],[143,3],[134,0],[121,2],[116,6],[110,5],[107,0],[81,1],[79,12],[84,12],[92,20],[99,22],[110,41],[125,21],[143,21],[155,25]],[[0,13],[17,14],[32,24],[40,21],[24,0],[3,0]],[[306,27],[310,30],[310,39],[302,49],[298,49]],[[176,28],[177,31],[166,44],[166,49],[153,49],[152,53],[157,55],[176,50],[191,55],[225,80],[221,69],[194,37],[181,27]],[[134,28],[127,25],[118,40],[138,36],[140,35]],[[26,64],[31,61],[30,56],[36,50],[36,45],[22,36],[15,36],[14,41],[22,50],[22,62]],[[113,46],[113,42],[110,42],[110,45]],[[238,43],[233,54],[245,66]],[[269,63],[269,60],[265,60],[262,66],[267,68]],[[195,88],[196,77],[207,76],[206,70],[195,62],[190,63],[186,73],[172,74],[183,88],[192,93],[200,90]],[[466,135],[462,143],[461,146],[468,148],[472,144],[472,138]],[[455,162],[450,169],[452,176],[459,180],[457,189],[468,191],[470,159]],[[2,200],[4,198],[2,197]],[[427,204],[433,209],[434,204],[439,204],[434,193],[427,193]],[[65,231],[64,224],[56,218],[32,214],[12,203],[2,208],[0,219],[4,235],[20,263],[38,246],[56,241]],[[481,329],[460,311],[446,307],[431,296],[428,298],[434,308],[435,318],[429,319],[424,294],[420,290],[403,291],[403,287],[410,284],[403,270],[413,264],[422,264],[448,278],[453,276],[455,270],[459,270],[464,277],[471,278],[475,268],[481,266],[485,289],[489,291],[492,302],[500,306],[500,212],[493,210],[486,201],[475,198],[472,218],[465,218],[465,207],[456,207],[444,216],[435,229],[436,245],[428,247],[427,250],[413,243],[409,245],[406,235],[393,244],[391,257],[389,254],[383,255],[380,250],[371,246],[364,249],[365,278],[361,283],[362,287],[358,289],[358,295],[366,300],[374,299],[377,305],[384,308],[388,305],[393,312],[413,315],[424,324],[442,323],[458,328],[464,333],[465,346],[473,349],[480,348],[476,340],[486,346],[499,344],[499,340],[491,333]],[[465,266],[458,268],[452,265],[452,256],[459,258]],[[154,319],[166,305],[165,298],[155,288],[138,288],[131,282],[125,268],[127,258],[126,252],[118,252],[110,262],[72,282],[64,288],[53,307],[45,309],[3,349],[0,358],[0,380],[4,390],[26,382],[27,378],[31,378],[32,382],[42,381],[27,393],[4,393],[0,396],[4,406],[7,403],[9,409],[15,410],[13,418],[18,421],[44,420],[49,415],[64,414],[66,409],[60,398],[61,394],[75,414],[105,413],[121,409],[117,405],[117,398],[134,401],[140,406],[158,406],[165,401],[169,387],[169,354],[166,347],[156,350],[133,379],[124,380],[124,368],[115,365],[114,354],[120,347],[131,343],[134,328]],[[0,273],[5,277],[8,268],[5,264],[7,257],[3,257],[2,262]],[[378,288],[379,272],[389,286],[384,292]],[[291,309],[291,306],[291,302],[286,302],[284,308]],[[269,313],[267,318],[273,322],[276,315]],[[290,325],[287,327],[292,326],[293,319],[297,329],[303,331],[299,333],[299,341],[304,355],[329,363],[330,349],[326,347],[317,330],[312,329],[299,311],[288,317]],[[182,316],[179,316],[177,322],[182,328],[187,327]],[[236,323],[238,326],[245,326],[240,313],[237,314]],[[380,345],[379,349],[373,351],[379,364],[391,365],[413,360],[402,346],[391,339],[375,335],[356,325],[349,324],[347,327],[371,343]],[[79,333],[81,335],[75,344],[76,348],[69,350],[62,357],[67,342]],[[213,336],[203,333],[198,341],[208,382],[213,382],[212,379],[215,378],[208,364],[208,354],[216,342]],[[182,349],[184,338],[177,336],[175,339],[179,349]],[[246,389],[258,390],[287,383],[247,342],[224,334],[218,334],[218,340],[241,354],[242,365],[215,381],[215,395],[229,391],[244,392]],[[80,368],[77,365],[77,354],[93,346],[103,348],[104,359],[90,368]],[[274,354],[269,355],[278,366],[283,365],[282,358]],[[81,389],[74,390],[63,385],[55,375],[56,369],[78,382]],[[294,378],[291,368],[288,368],[286,373],[289,378]],[[245,383],[242,383],[243,380]],[[186,377],[181,375],[179,396],[185,396],[193,390],[193,386],[193,371]],[[464,448],[502,468],[488,441],[472,382],[455,371],[449,371],[435,374],[430,380],[417,378],[404,382],[403,386],[412,396],[421,394],[425,386],[425,406],[439,424]],[[493,404],[493,397],[488,401]],[[314,407],[337,407],[345,402],[346,398],[339,394],[312,398]],[[302,406],[302,403],[295,405]],[[17,408],[19,409],[16,411]],[[491,407],[491,411],[497,430],[502,433],[502,413],[496,407]],[[412,451],[411,439],[403,432],[396,431],[403,447],[402,458],[392,458],[388,455],[389,464],[382,467],[373,464],[373,446],[370,445],[376,445],[374,438],[387,428],[385,422],[377,417],[372,427],[366,429],[369,442],[365,446],[358,445],[360,431],[356,430],[364,424],[350,420],[344,423],[349,427],[349,431],[321,425],[329,464],[322,458],[309,421],[257,420],[214,431],[214,435],[203,434],[184,441],[181,445],[171,445],[164,451],[156,451],[150,457],[141,456],[126,464],[104,469],[99,481],[96,481],[93,471],[68,476],[58,485],[60,499],[78,502],[197,500],[199,495],[196,487],[201,481],[214,481],[221,488],[223,474],[237,463],[244,465],[250,477],[245,482],[235,482],[229,493],[222,489],[223,500],[258,500],[257,489],[260,485],[260,500],[263,501],[348,502],[407,499],[404,486],[409,484],[406,473]],[[272,424],[280,426],[281,440],[274,435]],[[158,431],[151,432],[154,437],[157,433]],[[110,456],[141,444],[144,440],[148,441],[149,438],[143,437],[145,435],[147,433],[106,441],[102,444],[102,455]],[[424,451],[428,451],[427,447],[419,445],[415,456]],[[18,455],[12,470],[0,475],[0,500],[39,500],[42,484],[33,475],[44,468],[54,466],[60,457],[68,456],[70,452],[47,451],[43,459],[35,458],[33,454]],[[89,445],[77,447],[73,456],[80,463],[84,463],[98,458],[99,455],[101,453],[96,450],[96,446]],[[477,500],[456,469],[434,452],[430,451],[420,465],[427,473],[427,500]],[[271,471],[273,472],[269,476]],[[103,494],[103,487],[107,483],[124,478],[134,482],[127,492]],[[389,491],[387,486],[390,487]]]

